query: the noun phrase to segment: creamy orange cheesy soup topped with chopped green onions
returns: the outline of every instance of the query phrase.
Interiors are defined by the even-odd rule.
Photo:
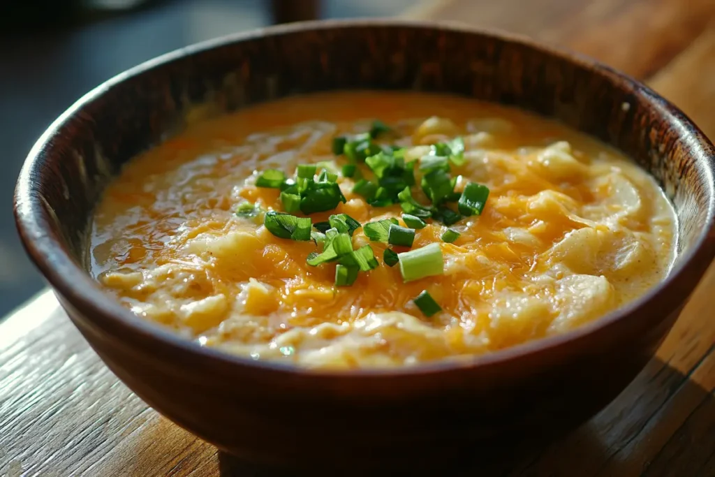
[[[378,118],[390,129],[361,136]],[[299,164],[306,179],[290,187],[280,172],[294,177]],[[445,174],[446,192],[433,183]],[[412,200],[395,196],[388,182],[405,185],[395,178]],[[335,199],[310,192],[337,192],[331,181],[344,202],[302,213]],[[403,208],[426,225],[405,222]],[[277,226],[286,216],[266,213],[286,210],[360,227],[337,220],[295,240],[308,238],[305,221]],[[379,222],[390,218],[399,227]],[[561,124],[462,97],[340,92],[196,121],[129,162],[97,208],[90,265],[132,312],[201,345],[374,368],[468,358],[598,318],[664,278],[675,230],[646,172]]]

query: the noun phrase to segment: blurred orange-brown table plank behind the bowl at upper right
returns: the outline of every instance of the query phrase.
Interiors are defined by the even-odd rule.
[[[715,11],[711,0],[442,0],[430,5],[410,16],[525,34],[639,78],[668,64],[706,29]]]

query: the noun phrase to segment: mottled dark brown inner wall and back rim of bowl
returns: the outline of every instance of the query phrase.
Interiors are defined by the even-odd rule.
[[[676,267],[712,227],[713,148],[654,92],[522,39],[395,21],[284,26],[132,69],[87,94],[46,132],[30,154],[31,179],[19,200],[41,212],[36,232],[59,237],[86,268],[87,230],[104,186],[124,162],[179,131],[190,108],[204,104],[222,114],[330,89],[448,92],[556,117],[656,177],[679,218]]]

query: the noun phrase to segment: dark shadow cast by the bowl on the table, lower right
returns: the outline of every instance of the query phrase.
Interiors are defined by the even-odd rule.
[[[558,441],[524,447],[515,436],[507,445],[454,456],[440,471],[404,475],[713,477],[714,423],[714,395],[661,360],[652,360],[611,405]],[[222,477],[365,476],[352,474],[349,463],[325,473],[300,473],[257,467],[226,453],[219,453],[219,468]]]

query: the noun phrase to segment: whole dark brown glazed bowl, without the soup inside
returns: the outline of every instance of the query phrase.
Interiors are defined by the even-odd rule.
[[[201,348],[102,292],[87,273],[88,227],[124,162],[179,131],[192,105],[220,114],[330,89],[461,94],[556,117],[612,144],[653,174],[675,205],[680,239],[671,275],[565,335],[465,363],[345,373]],[[311,22],[182,49],[94,89],[30,152],[15,212],[27,252],[92,348],[179,426],[250,461],[426,466],[572,428],[628,385],[714,256],[714,157],[676,107],[591,59],[446,24]]]

